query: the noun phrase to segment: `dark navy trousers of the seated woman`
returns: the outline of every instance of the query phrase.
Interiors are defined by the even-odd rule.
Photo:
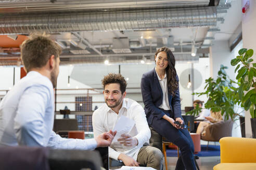
[[[163,111],[165,112],[166,115],[173,118],[171,110]],[[156,117],[153,118],[152,124],[150,124],[150,126],[152,126],[153,129],[157,131],[161,136],[167,138],[168,141],[171,141],[173,144],[180,148],[182,162],[187,170],[196,169],[196,164],[194,160],[194,144],[188,130],[176,129],[167,120],[163,118],[158,120]],[[176,167],[176,169],[182,168]]]

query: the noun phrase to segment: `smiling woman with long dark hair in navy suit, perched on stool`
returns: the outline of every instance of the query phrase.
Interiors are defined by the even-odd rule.
[[[142,76],[141,89],[148,124],[161,136],[181,149],[182,161],[186,169],[196,169],[194,144],[183,124],[178,76],[172,51],[162,47],[155,54],[156,67]],[[184,169],[177,163],[176,169]]]

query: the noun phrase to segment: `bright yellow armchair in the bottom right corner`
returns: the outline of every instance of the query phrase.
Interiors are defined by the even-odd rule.
[[[256,139],[242,137],[223,137],[220,139],[221,163],[213,170],[255,170]]]

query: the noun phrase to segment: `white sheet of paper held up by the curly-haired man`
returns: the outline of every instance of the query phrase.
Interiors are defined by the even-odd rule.
[[[116,136],[114,136],[112,142],[117,142],[117,139],[121,138],[122,134],[129,133],[133,126],[135,125],[135,121],[129,119],[125,116],[121,116],[116,125],[114,125],[113,132],[117,131]]]

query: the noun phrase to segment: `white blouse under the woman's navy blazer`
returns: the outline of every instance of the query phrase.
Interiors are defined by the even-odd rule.
[[[155,69],[156,69],[156,67],[155,67]],[[157,73],[157,70],[156,70],[156,73]],[[160,83],[160,86],[161,86],[161,89],[163,92],[163,102],[159,106],[159,108],[164,109],[164,110],[171,110],[171,107],[169,105],[169,100],[168,100],[167,75],[165,73],[163,79],[161,79],[158,76],[158,74],[157,74],[157,77],[158,77],[158,81]]]

